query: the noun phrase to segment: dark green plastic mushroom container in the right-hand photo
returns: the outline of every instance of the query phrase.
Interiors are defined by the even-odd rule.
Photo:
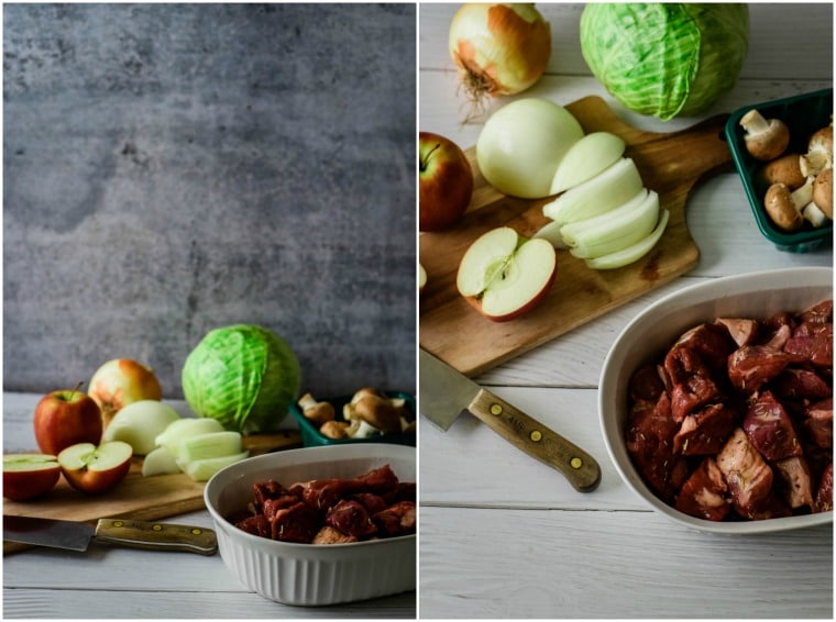
[[[810,223],[804,223],[804,229],[801,231],[787,233],[776,227],[767,215],[763,208],[763,196],[767,188],[758,181],[756,175],[763,163],[756,160],[746,151],[744,141],[746,132],[740,127],[740,119],[752,108],[767,119],[780,119],[787,123],[790,129],[788,152],[804,154],[807,152],[810,136],[816,130],[831,123],[833,89],[747,105],[733,113],[726,122],[726,140],[755,214],[755,221],[765,237],[780,251],[790,253],[809,253],[824,245],[832,245],[833,222],[828,222],[820,229],[813,229]]]

